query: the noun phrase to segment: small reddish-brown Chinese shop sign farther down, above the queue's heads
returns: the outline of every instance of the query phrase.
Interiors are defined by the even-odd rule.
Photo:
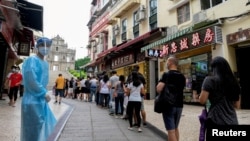
[[[126,55],[112,59],[111,67],[114,69],[132,63],[134,63],[134,55],[133,53],[128,53]]]

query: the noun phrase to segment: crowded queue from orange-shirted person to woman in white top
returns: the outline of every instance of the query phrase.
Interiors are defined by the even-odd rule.
[[[134,66],[127,80],[124,75],[117,75],[115,70],[111,71],[110,75],[109,77],[104,71],[98,76],[77,79],[72,77],[67,80],[62,74],[59,74],[55,81],[54,103],[60,104],[62,98],[95,102],[100,108],[109,109],[109,115],[128,119],[129,130],[137,127],[138,132],[141,132],[141,125],[147,126],[143,104],[146,81],[144,76],[139,73],[139,66]]]

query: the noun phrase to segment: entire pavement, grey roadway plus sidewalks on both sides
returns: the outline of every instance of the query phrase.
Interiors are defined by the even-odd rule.
[[[16,107],[9,106],[8,98],[4,98],[6,100],[0,100],[0,140],[19,141],[21,98],[18,98]],[[167,134],[161,114],[153,111],[154,100],[144,100],[144,102],[149,124],[138,134],[137,131],[127,130],[128,121],[109,116],[106,109],[101,109],[94,103],[63,99],[61,105],[55,105],[52,98],[49,104],[58,119],[58,126],[50,140],[152,141],[152,137],[154,141],[164,140]],[[201,110],[202,106],[184,105],[179,125],[180,141],[198,140],[200,127],[198,115]],[[250,110],[237,110],[237,115],[240,124],[250,124]]]

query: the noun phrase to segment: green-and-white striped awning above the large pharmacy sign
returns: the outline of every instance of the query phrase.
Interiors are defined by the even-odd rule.
[[[166,42],[168,42],[170,40],[173,40],[175,38],[183,36],[183,35],[185,35],[187,33],[191,33],[192,31],[193,31],[193,27],[185,28],[185,29],[183,29],[183,30],[181,30],[179,32],[176,32],[176,33],[174,33],[174,34],[172,34],[170,36],[166,36],[166,37],[164,37],[164,38],[162,38],[160,40],[157,40],[157,41],[155,41],[155,42],[153,42],[153,43],[151,43],[149,45],[146,45],[146,46],[142,47],[141,52],[143,52],[145,50],[148,50],[148,49],[151,49],[151,48],[156,47],[156,46],[163,45],[163,44],[165,44]]]

